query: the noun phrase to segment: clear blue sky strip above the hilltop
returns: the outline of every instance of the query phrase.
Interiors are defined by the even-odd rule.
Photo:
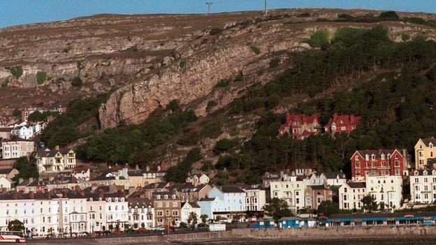
[[[264,0],[0,0],[0,28],[101,13],[211,13],[262,10]],[[436,12],[436,0],[267,0],[268,8],[368,8]]]

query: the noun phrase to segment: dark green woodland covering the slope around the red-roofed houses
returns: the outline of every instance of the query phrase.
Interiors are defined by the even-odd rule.
[[[352,21],[352,20],[350,20]],[[260,180],[263,172],[311,166],[318,170],[347,172],[349,157],[356,149],[405,147],[412,151],[420,137],[436,135],[436,43],[419,36],[394,43],[385,27],[372,29],[340,28],[331,34],[318,31],[307,40],[314,49],[291,55],[290,68],[265,86],[253,85],[244,96],[235,99],[226,117],[261,114],[256,133],[249,140],[219,140],[213,166],[203,162],[203,169],[219,170],[216,181]],[[277,64],[276,64],[277,65]],[[366,77],[363,79],[363,77]],[[368,79],[368,77],[370,77]],[[334,87],[335,89],[327,89]],[[290,96],[311,99],[293,107],[292,112],[319,114],[321,124],[334,112],[358,114],[361,124],[349,135],[328,134],[306,140],[277,138],[284,120],[274,108]],[[101,98],[103,99],[103,98]],[[96,117],[99,98],[75,101],[68,112],[57,117],[43,133],[42,140],[52,147],[66,145],[82,136],[79,121]],[[82,111],[82,109],[84,109]],[[78,156],[109,163],[148,163],[163,153],[159,146],[177,131],[185,131],[177,140],[181,145],[198,145],[198,139],[212,137],[220,128],[189,131],[186,127],[197,117],[182,110],[177,101],[166,110],[152,114],[143,124],[93,133],[78,147]],[[216,127],[217,125],[214,124]],[[189,151],[180,163],[170,168],[169,178],[183,181],[192,163],[202,158],[198,148]]]

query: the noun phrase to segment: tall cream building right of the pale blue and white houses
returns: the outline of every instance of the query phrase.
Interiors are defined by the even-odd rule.
[[[296,181],[273,181],[270,183],[271,198],[286,200],[289,209],[298,211],[305,208],[306,181],[298,177]]]

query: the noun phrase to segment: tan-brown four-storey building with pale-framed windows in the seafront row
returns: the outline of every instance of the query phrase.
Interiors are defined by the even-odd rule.
[[[154,192],[152,193],[152,201],[155,225],[169,227],[180,223],[181,202],[175,193]]]

